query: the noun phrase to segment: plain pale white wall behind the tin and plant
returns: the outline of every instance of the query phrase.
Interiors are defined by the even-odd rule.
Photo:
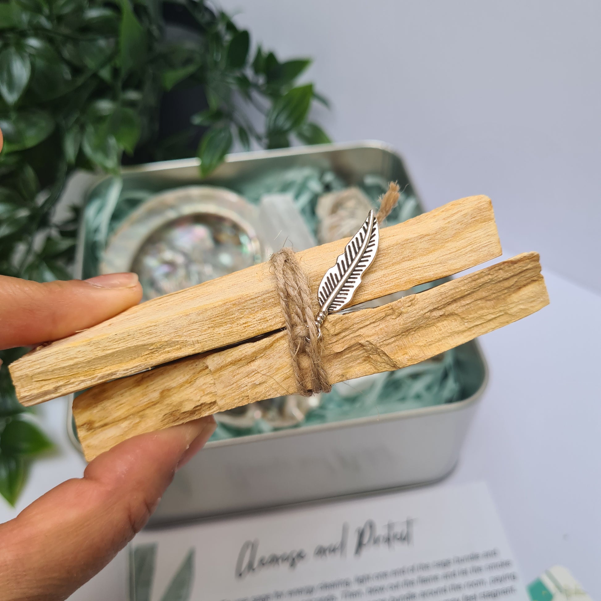
[[[332,139],[392,144],[427,209],[487,194],[504,246],[601,291],[601,2],[221,4],[315,59]]]

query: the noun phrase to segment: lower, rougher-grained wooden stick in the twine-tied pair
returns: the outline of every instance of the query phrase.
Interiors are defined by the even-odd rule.
[[[415,364],[545,307],[538,255],[508,261],[323,326],[329,382]],[[73,415],[85,457],[130,436],[297,392],[285,332],[95,386]]]

